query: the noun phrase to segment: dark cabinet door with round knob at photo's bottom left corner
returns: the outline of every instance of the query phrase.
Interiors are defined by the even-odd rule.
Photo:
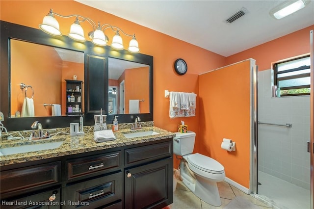
[[[54,200],[49,200],[52,197]],[[42,191],[19,199],[1,200],[1,209],[60,209],[60,188]]]

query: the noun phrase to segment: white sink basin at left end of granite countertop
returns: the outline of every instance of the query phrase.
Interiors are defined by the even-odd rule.
[[[42,144],[23,145],[18,147],[7,147],[0,149],[0,156],[13,155],[18,153],[36,152],[41,150],[51,150],[61,146],[63,141],[48,142]]]

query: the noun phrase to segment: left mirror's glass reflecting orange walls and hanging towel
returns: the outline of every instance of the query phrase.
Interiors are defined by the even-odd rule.
[[[84,81],[84,53],[15,39],[10,40],[10,47],[10,116],[66,115],[69,93],[65,80]],[[20,83],[31,87],[21,89]],[[84,84],[81,101],[84,101],[83,89]],[[79,106],[82,110],[83,105],[82,102]],[[29,114],[31,111],[34,115]]]

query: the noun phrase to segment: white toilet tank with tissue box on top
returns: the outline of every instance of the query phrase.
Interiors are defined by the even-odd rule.
[[[176,132],[173,137],[173,153],[179,156],[185,156],[193,153],[195,143],[195,132],[187,133]]]

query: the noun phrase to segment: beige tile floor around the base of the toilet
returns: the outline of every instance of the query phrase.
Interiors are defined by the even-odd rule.
[[[271,209],[270,206],[262,203],[251,195],[247,195],[226,182],[218,182],[218,190],[221,199],[221,206],[214,207],[196,197],[183,183],[178,182],[176,191],[173,193],[173,204],[170,209],[223,209],[235,196],[241,196],[261,209]]]

